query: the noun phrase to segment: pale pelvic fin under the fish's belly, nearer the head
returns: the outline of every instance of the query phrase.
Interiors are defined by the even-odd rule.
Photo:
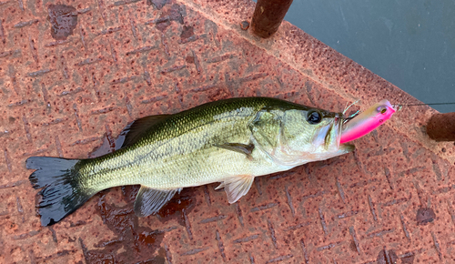
[[[253,184],[254,176],[250,175],[238,175],[226,178],[217,188],[225,188],[227,194],[227,200],[230,204],[238,201],[239,198],[243,197],[248,193],[251,184]]]

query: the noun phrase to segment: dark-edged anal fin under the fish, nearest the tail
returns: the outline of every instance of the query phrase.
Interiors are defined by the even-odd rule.
[[[155,189],[141,186],[135,201],[136,216],[147,217],[156,213],[174,197],[177,191],[180,192],[181,190],[182,188]]]

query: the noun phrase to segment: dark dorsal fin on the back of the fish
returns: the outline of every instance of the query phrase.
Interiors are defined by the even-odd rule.
[[[146,134],[148,129],[154,127],[169,116],[171,115],[157,115],[136,119],[122,130],[116,140],[116,146],[123,148],[135,144],[139,138]]]

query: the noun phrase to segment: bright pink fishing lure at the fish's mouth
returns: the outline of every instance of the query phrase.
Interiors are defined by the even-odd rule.
[[[359,137],[363,137],[384,124],[397,111],[390,105],[388,100],[382,100],[378,104],[369,107],[359,116],[352,118],[343,126],[339,144],[343,144]]]

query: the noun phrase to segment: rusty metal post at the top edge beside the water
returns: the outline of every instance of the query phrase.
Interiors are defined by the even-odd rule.
[[[257,36],[267,38],[277,32],[292,0],[258,0],[251,27]]]

